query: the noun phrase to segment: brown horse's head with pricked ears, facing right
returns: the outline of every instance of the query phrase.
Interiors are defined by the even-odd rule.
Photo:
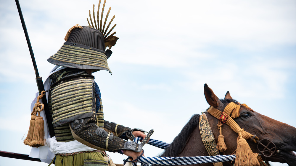
[[[296,151],[295,127],[259,114],[250,109],[246,104],[240,104],[232,99],[229,91],[226,93],[225,98],[220,100],[213,90],[205,84],[204,93],[207,103],[211,106],[210,108],[221,112],[230,103],[238,105],[237,116],[234,116],[233,120],[247,135],[250,134],[251,139],[247,140],[247,142],[252,152],[258,153],[264,161],[287,163],[289,166],[295,165],[296,155],[293,153],[293,151]],[[208,113],[209,110],[206,115],[217,142],[220,131],[216,125],[219,123],[219,120],[217,117],[212,116],[212,113]],[[234,111],[231,114],[235,114]],[[233,154],[237,149],[238,133],[233,129],[233,126],[221,122],[220,124],[222,124],[222,134],[227,146],[224,153]]]

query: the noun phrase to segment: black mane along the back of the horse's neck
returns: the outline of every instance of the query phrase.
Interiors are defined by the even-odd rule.
[[[184,149],[188,138],[198,125],[199,120],[200,115],[194,114],[161,156],[178,156],[178,154]]]

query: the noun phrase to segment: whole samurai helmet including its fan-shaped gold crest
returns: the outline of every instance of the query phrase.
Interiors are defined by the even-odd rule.
[[[56,54],[49,57],[49,59],[47,60],[49,63],[68,68],[92,69],[93,72],[99,70],[107,70],[111,73],[107,63],[107,59],[112,54],[112,51],[106,50],[106,47],[109,47],[110,49],[112,46],[114,46],[116,44],[116,41],[118,40],[118,37],[113,36],[116,32],[110,34],[116,24],[107,33],[107,30],[115,16],[112,17],[110,23],[105,29],[111,7],[107,12],[104,26],[102,28],[105,3],[106,1],[104,1],[103,4],[100,23],[99,19],[97,19],[98,27],[95,21],[93,5],[93,18],[95,27],[91,19],[91,12],[89,11],[89,17],[92,26],[90,25],[89,19],[87,18],[89,26],[80,26],[76,24],[75,26],[71,27],[67,31],[67,34],[65,36],[66,42],[62,45],[62,47],[58,50]],[[99,6],[100,4],[101,0],[99,1]],[[97,18],[99,18],[99,7],[97,13]]]

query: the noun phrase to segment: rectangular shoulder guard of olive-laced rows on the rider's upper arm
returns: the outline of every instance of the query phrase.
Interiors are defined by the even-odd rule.
[[[95,110],[94,76],[76,75],[52,85],[53,126],[88,118]]]

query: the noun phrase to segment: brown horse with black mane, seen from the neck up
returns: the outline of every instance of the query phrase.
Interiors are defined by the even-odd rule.
[[[224,99],[219,99],[214,94],[213,90],[207,86],[207,84],[204,86],[204,94],[207,103],[210,104],[210,107],[214,107],[222,112],[229,103],[238,103],[230,96],[229,91],[227,91]],[[215,142],[217,142],[220,134],[220,131],[217,129],[219,120],[209,114],[208,111],[205,111],[205,114],[215,138]],[[199,114],[193,115],[161,156],[209,156],[209,153],[202,142],[199,120]],[[239,109],[239,116],[233,120],[242,129],[259,138],[257,143],[252,141],[252,139],[247,140],[247,143],[249,144],[252,152],[258,153],[263,161],[267,161],[267,164],[268,161],[287,163],[289,166],[296,164],[296,155],[293,153],[293,151],[296,151],[295,127],[259,114],[244,105]],[[226,124],[224,124],[222,128],[227,149],[224,152],[219,152],[219,154],[234,154],[237,149],[238,135],[233,131],[233,129],[231,129],[230,126]],[[263,146],[266,146],[265,150],[259,148],[260,146],[258,146],[258,144],[260,143],[260,140],[262,140],[261,143],[263,140],[267,141],[267,143],[262,143]],[[263,154],[266,153],[266,149],[268,149],[267,151],[269,152],[267,153],[269,154]],[[234,162],[223,162],[223,165],[232,166],[233,163]],[[213,166],[212,163],[200,165]]]

